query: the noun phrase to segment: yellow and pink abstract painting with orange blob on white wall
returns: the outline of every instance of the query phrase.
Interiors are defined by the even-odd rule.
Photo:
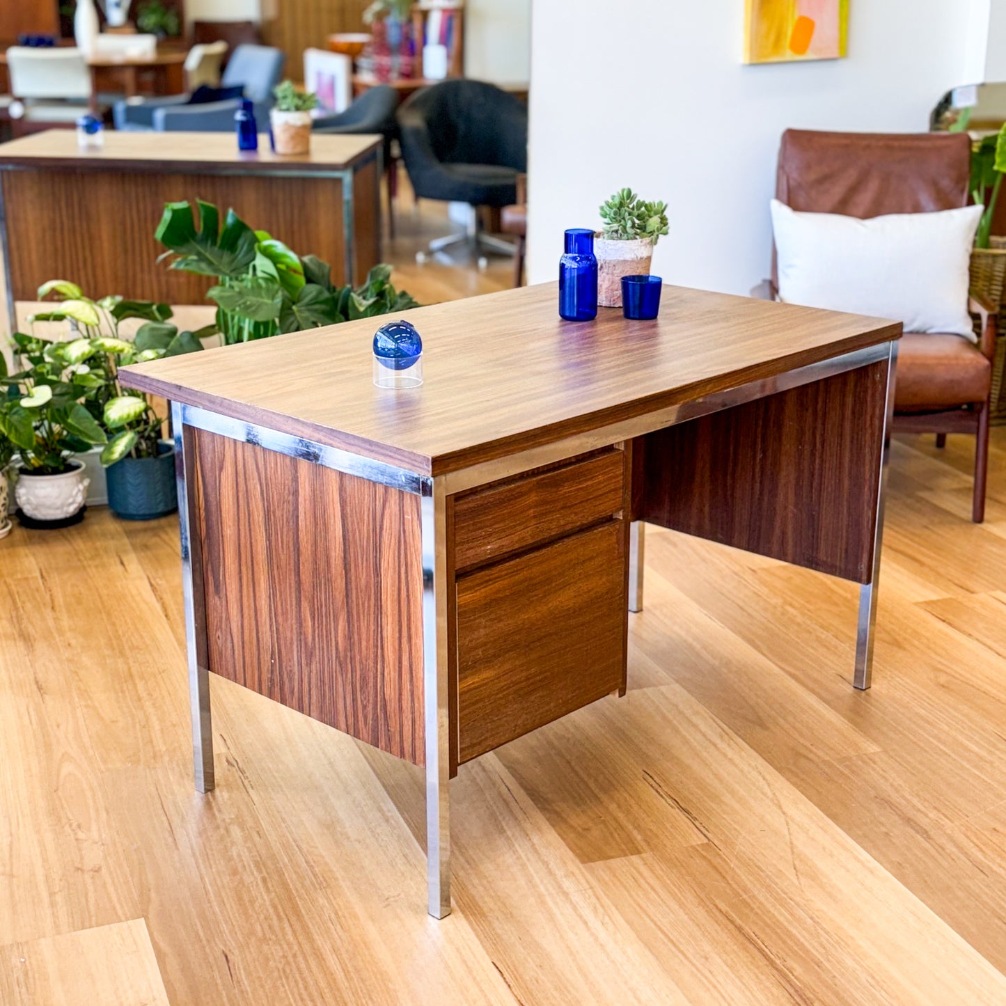
[[[746,0],[746,4],[744,62],[845,55],[849,0]]]

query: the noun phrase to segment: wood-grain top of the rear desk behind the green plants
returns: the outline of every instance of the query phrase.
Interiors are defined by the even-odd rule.
[[[108,130],[101,150],[81,151],[73,130],[53,129],[0,144],[0,169],[62,168],[163,173],[339,171],[365,160],[383,143],[377,135],[311,137],[311,152],[281,157],[260,141],[258,151],[239,151],[233,133],[120,133]]]

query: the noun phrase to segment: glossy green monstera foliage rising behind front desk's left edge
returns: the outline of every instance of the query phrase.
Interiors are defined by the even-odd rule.
[[[391,267],[375,266],[357,289],[332,283],[332,268],[316,256],[298,256],[265,230],[253,230],[228,209],[169,202],[155,236],[170,269],[217,282],[207,297],[217,305],[215,331],[224,345],[300,332],[418,307],[391,285]]]

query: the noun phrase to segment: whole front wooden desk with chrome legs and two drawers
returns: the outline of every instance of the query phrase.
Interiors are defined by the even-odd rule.
[[[900,326],[673,287],[657,321],[574,324],[556,300],[406,312],[408,391],[373,386],[373,321],[123,371],[174,402],[197,789],[210,671],[425,765],[438,917],[458,766],[625,693],[643,521],[860,583],[870,683]]]

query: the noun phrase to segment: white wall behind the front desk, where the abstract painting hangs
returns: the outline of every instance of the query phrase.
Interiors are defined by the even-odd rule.
[[[744,66],[743,0],[534,0],[531,282],[555,275],[565,227],[598,225],[631,185],[670,207],[655,273],[746,294],[770,267],[783,131],[926,131],[973,80],[973,2],[852,0],[847,58]]]

